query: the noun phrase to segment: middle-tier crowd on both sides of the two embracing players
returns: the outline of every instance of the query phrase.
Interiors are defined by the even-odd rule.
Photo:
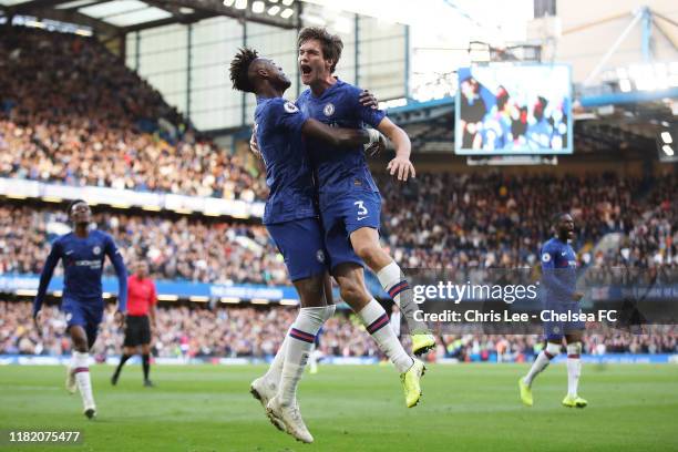
[[[569,209],[583,266],[676,270],[678,207],[666,195],[676,182],[675,176],[658,177],[639,198],[634,196],[639,181],[614,175],[561,179],[424,173],[404,186],[379,177],[386,197],[381,233],[404,268],[533,267],[549,236],[547,218]],[[114,236],[126,261],[147,259],[154,278],[287,281],[284,263],[259,225],[111,212],[97,213],[94,222]],[[50,240],[68,230],[63,212],[0,206],[0,274],[40,273]],[[610,232],[622,234],[619,245],[595,251],[596,240]]]

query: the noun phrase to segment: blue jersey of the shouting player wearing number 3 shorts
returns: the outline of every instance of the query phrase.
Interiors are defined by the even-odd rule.
[[[363,106],[361,90],[341,80],[329,86],[319,97],[310,90],[301,93],[297,104],[301,112],[333,127],[377,127],[386,116],[382,110]],[[333,195],[353,189],[379,193],[368,167],[363,146],[332,148],[319,140],[307,140],[307,151],[314,165],[320,204],[331,202]]]

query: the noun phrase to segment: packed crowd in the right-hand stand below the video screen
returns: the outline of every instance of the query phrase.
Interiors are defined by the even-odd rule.
[[[381,233],[405,268],[534,267],[558,212],[575,218],[573,246],[583,266],[619,264],[593,253],[607,233],[627,237],[630,266],[678,266],[672,175],[657,177],[649,193],[641,179],[615,174],[424,173],[407,185],[387,176],[378,181]]]

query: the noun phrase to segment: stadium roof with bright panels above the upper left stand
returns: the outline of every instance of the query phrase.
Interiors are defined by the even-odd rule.
[[[227,16],[292,29],[298,25],[297,0],[0,0],[6,17],[30,16],[120,35],[172,23],[194,23]]]

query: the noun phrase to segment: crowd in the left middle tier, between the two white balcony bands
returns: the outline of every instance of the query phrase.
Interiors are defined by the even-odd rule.
[[[260,225],[160,215],[100,213],[96,227],[110,233],[123,259],[148,263],[151,277],[212,284],[287,282],[287,270]],[[63,210],[0,206],[0,275],[39,274],[50,243],[70,230]],[[55,275],[62,274],[59,265]],[[106,273],[113,275],[112,266]]]

